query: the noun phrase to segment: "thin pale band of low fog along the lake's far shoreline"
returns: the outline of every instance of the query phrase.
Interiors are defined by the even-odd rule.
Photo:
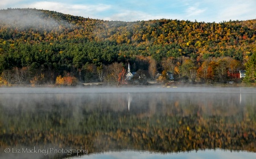
[[[7,93],[256,93],[254,87],[2,87],[0,94]]]

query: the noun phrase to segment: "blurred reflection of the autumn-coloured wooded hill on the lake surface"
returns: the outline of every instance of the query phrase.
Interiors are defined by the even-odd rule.
[[[0,146],[83,147],[89,153],[216,148],[255,152],[255,94],[128,95],[2,94]]]

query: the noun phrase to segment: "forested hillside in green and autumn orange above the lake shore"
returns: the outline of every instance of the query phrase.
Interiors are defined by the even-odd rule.
[[[177,80],[225,82],[245,69],[245,81],[255,82],[255,35],[256,20],[117,22],[47,10],[0,10],[0,85],[122,85],[128,62],[131,72],[147,78],[164,71]]]

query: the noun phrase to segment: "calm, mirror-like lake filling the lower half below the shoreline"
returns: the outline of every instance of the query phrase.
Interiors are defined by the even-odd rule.
[[[255,158],[255,95],[234,87],[0,88],[0,158]]]

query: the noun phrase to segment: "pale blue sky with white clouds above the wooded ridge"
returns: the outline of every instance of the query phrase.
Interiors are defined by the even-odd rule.
[[[0,9],[43,9],[101,20],[179,19],[223,22],[256,19],[255,0],[1,0]]]

